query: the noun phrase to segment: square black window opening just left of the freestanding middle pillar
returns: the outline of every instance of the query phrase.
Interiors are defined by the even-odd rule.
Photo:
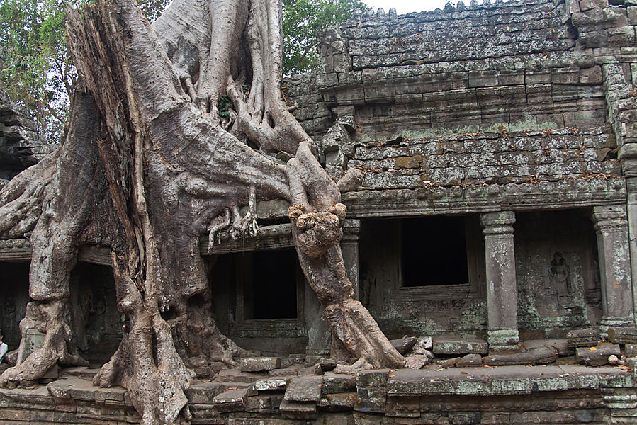
[[[402,220],[402,286],[469,282],[464,217]]]

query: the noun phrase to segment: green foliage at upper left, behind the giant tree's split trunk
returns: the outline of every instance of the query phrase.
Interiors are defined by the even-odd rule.
[[[0,0],[0,81],[49,142],[62,137],[77,78],[67,52],[67,7],[89,1]],[[168,0],[138,1],[152,21]]]

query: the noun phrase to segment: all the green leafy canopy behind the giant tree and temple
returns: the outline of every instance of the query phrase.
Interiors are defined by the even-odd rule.
[[[0,0],[0,81],[49,142],[67,120],[77,74],[67,52],[66,10],[92,0]],[[150,21],[169,0],[137,0]],[[366,10],[361,0],[283,0],[283,74],[317,66],[317,34]]]

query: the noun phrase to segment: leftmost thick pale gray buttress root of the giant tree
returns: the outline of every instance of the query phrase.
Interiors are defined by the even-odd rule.
[[[42,346],[0,376],[0,385],[10,381],[41,378],[55,363],[86,365],[79,356],[69,307],[69,273],[75,265],[81,232],[91,211],[103,198],[103,169],[91,147],[96,139],[96,117],[88,96],[78,94],[72,106],[72,130],[49,157],[23,171],[0,193],[6,216],[28,208],[28,221],[16,228],[30,232],[32,258],[28,305],[21,322],[22,342],[29,329],[45,334]],[[37,188],[35,191],[32,188]],[[5,229],[3,229],[5,230]],[[4,237],[11,236],[11,232]],[[16,234],[18,236],[18,234]],[[19,236],[24,236],[19,234]],[[24,353],[21,347],[21,353]]]

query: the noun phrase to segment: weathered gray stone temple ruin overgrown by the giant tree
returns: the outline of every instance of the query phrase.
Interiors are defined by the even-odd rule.
[[[258,237],[201,239],[218,326],[261,357],[197,370],[216,378],[188,390],[192,423],[634,424],[636,25],[633,0],[523,0],[379,10],[328,30],[321,71],[284,90],[329,174],[365,171],[343,194],[346,268],[380,329],[425,366],[353,376],[317,363],[329,327],[288,204],[263,202]],[[45,148],[0,102],[8,179]],[[0,241],[10,349],[29,260],[28,239]],[[91,367],[0,390],[0,424],[139,421],[123,388],[86,380],[124,324],[110,265],[85,246],[72,273]],[[30,338],[23,351],[43,336]]]

